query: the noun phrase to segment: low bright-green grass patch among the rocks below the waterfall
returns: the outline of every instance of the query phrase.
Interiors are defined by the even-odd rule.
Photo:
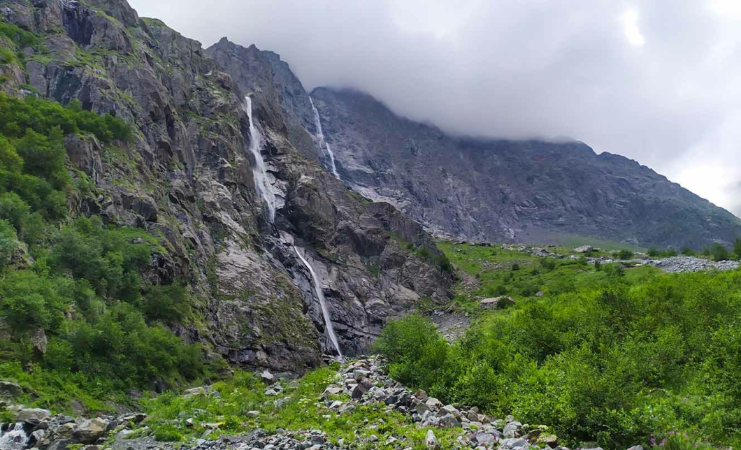
[[[249,372],[236,372],[229,380],[211,386],[218,396],[202,394],[185,398],[175,392],[144,400],[148,418],[143,424],[153,430],[161,440],[185,442],[201,437],[213,429],[209,439],[221,435],[245,434],[256,428],[273,433],[277,429],[299,431],[321,429],[331,443],[340,439],[345,443],[356,437],[367,439],[371,434],[379,439],[362,443],[359,449],[391,449],[385,441],[393,436],[405,437],[405,444],[413,449],[424,449],[427,429],[417,429],[411,417],[388,410],[384,403],[357,406],[352,411],[339,413],[330,410],[320,399],[327,386],[338,383],[337,372],[322,367],[308,373],[300,380],[282,383],[283,392],[265,394],[266,386]],[[277,400],[277,401],[276,401]],[[343,403],[350,400],[345,395],[333,395],[330,401]],[[251,412],[258,412],[253,414]],[[192,425],[186,420],[193,419]],[[453,430],[435,429],[444,448],[452,446]]]

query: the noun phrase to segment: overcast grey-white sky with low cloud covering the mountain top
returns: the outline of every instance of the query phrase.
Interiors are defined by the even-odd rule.
[[[741,0],[129,0],[451,132],[559,137],[741,213]]]

